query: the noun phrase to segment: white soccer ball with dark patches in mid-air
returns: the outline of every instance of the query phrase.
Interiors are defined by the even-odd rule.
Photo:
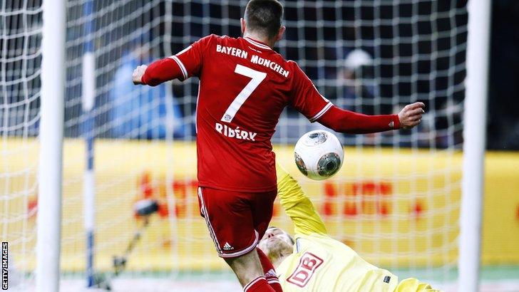
[[[341,169],[344,149],[331,132],[315,130],[297,140],[294,159],[302,174],[310,179],[322,180],[332,177]]]

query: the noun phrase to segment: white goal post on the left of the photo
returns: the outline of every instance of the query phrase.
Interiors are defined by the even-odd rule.
[[[65,100],[64,0],[43,1],[41,125],[38,167],[36,289],[58,291],[61,251],[63,108]]]

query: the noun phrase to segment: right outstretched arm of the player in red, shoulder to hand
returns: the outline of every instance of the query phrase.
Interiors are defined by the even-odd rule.
[[[320,122],[336,132],[366,134],[400,128],[408,129],[421,122],[423,103],[406,105],[398,115],[363,115],[337,108],[324,98],[312,80],[294,63],[292,78],[292,105],[310,122]]]

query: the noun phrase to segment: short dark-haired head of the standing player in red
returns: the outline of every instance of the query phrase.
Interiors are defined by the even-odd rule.
[[[243,36],[260,38],[269,46],[279,41],[285,27],[281,25],[283,5],[277,0],[251,0],[245,8],[242,21]]]

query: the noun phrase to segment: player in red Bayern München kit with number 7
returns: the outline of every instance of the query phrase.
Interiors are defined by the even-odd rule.
[[[200,212],[218,255],[235,271],[244,291],[281,291],[272,265],[256,245],[272,217],[277,193],[270,140],[282,110],[292,105],[310,122],[338,132],[369,133],[413,127],[424,106],[414,103],[399,115],[371,116],[336,108],[297,63],[272,50],[285,30],[282,15],[279,1],[249,1],[241,19],[242,38],[206,36],[133,73],[135,84],[151,86],[200,78]]]

